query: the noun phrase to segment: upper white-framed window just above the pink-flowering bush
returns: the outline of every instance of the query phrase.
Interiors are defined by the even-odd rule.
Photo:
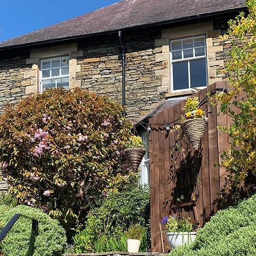
[[[59,86],[69,88],[69,57],[41,60],[40,64],[40,92]]]

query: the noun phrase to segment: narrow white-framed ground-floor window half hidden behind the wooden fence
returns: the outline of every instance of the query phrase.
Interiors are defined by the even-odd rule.
[[[149,189],[150,188],[150,159],[149,159],[148,132],[145,131],[140,136],[142,137],[142,141],[144,142],[146,153],[144,154],[142,162],[139,165],[139,168],[141,170],[139,174],[139,184],[148,185],[148,189]]]

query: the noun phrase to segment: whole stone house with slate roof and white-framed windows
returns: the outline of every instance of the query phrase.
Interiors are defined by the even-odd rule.
[[[127,118],[145,126],[192,88],[227,79],[231,44],[219,36],[242,10],[245,0],[123,0],[2,42],[0,108],[46,88],[79,86],[120,102],[125,96]],[[147,132],[142,137],[148,142]],[[148,161],[147,153],[142,183]]]

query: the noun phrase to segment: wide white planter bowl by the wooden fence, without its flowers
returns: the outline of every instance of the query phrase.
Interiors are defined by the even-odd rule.
[[[189,245],[195,241],[196,232],[167,232],[167,240],[172,249],[177,248],[179,245]]]

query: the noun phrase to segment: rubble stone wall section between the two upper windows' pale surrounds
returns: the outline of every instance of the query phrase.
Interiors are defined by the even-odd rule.
[[[123,44],[126,54],[126,107],[128,118],[139,121],[150,110],[164,100],[162,78],[155,72],[162,69],[162,61],[155,58],[162,48],[155,47],[155,39],[160,38],[160,29],[126,32]],[[79,51],[84,52],[77,61],[81,72],[83,89],[98,94],[108,93],[114,100],[122,101],[122,64],[119,54],[118,36],[85,40],[79,43]]]

